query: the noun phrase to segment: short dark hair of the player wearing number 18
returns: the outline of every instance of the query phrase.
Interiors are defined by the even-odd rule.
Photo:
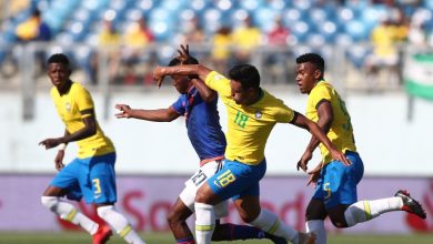
[[[229,71],[229,78],[242,84],[242,89],[260,88],[259,70],[251,64],[238,64]]]

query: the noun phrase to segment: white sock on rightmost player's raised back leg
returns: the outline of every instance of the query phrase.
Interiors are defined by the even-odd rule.
[[[345,221],[349,226],[370,221],[383,213],[400,211],[403,207],[401,197],[389,197],[373,201],[360,201],[348,207],[344,212]]]

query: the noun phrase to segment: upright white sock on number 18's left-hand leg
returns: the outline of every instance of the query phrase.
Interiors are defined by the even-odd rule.
[[[213,205],[194,203],[194,209],[197,244],[209,244],[211,243],[213,228],[215,227],[215,213]]]

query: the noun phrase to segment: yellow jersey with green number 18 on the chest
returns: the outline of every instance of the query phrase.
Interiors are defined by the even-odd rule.
[[[262,98],[251,105],[236,104],[231,99],[230,80],[212,71],[205,83],[215,90],[228,112],[228,146],[225,157],[256,165],[264,159],[264,146],[276,123],[289,123],[294,111],[283,101],[262,90]]]

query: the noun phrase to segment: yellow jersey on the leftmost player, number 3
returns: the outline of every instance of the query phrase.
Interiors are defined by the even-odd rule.
[[[53,87],[50,94],[58,114],[70,134],[84,128],[82,119],[89,116],[89,114],[83,115],[80,111],[94,109],[93,100],[84,87],[72,82],[68,93],[60,95],[57,88]],[[97,133],[90,138],[77,141],[77,144],[79,146],[78,157],[80,159],[114,152],[113,143],[103,134],[98,122]]]

